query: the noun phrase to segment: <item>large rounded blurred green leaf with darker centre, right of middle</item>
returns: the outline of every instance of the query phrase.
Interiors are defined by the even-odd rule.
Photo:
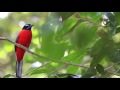
[[[75,45],[77,48],[90,46],[96,38],[96,31],[96,26],[89,26],[87,22],[80,23],[70,37],[72,45]]]

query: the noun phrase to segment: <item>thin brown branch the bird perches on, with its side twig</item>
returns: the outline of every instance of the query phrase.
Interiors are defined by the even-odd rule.
[[[28,53],[30,53],[30,54],[35,55],[35,56],[40,57],[40,58],[43,58],[43,59],[48,60],[48,61],[57,62],[57,63],[62,63],[62,64],[65,64],[65,65],[71,65],[71,66],[76,66],[76,67],[89,68],[88,66],[84,66],[84,65],[81,65],[81,64],[74,64],[74,63],[69,63],[69,62],[63,62],[63,61],[61,61],[61,60],[52,60],[52,59],[50,59],[50,58],[48,58],[48,57],[41,56],[41,55],[39,55],[39,54],[37,54],[37,53],[35,53],[35,52],[30,51],[30,50],[29,50],[28,48],[26,48],[25,46],[13,42],[12,40],[10,40],[10,39],[7,38],[7,37],[0,37],[0,40],[6,40],[6,41],[8,41],[8,42],[10,42],[10,43],[12,43],[12,44],[14,44],[14,45],[16,45],[16,46],[24,49],[24,50],[26,50],[26,51],[27,51]],[[49,62],[49,63],[50,63],[50,62]],[[48,64],[48,63],[46,63],[46,64]],[[46,64],[45,64],[45,65],[46,65]],[[44,64],[43,64],[43,66],[44,66]],[[30,72],[32,72],[32,71],[34,71],[34,70],[37,70],[37,69],[39,69],[39,68],[40,68],[40,67],[35,68],[35,69],[33,69],[33,70],[31,70],[31,71],[23,74],[22,76],[25,76],[25,75],[29,74]],[[108,68],[107,68],[107,69],[108,69]],[[56,70],[55,70],[55,71],[56,71]],[[107,74],[112,74],[112,75],[120,76],[120,74],[118,74],[118,73],[116,73],[116,72],[109,71],[109,70],[105,70],[105,72],[106,72]]]

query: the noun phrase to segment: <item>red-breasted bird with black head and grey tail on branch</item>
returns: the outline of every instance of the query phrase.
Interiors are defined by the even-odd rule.
[[[25,46],[26,48],[29,48],[29,45],[31,43],[32,39],[32,24],[25,24],[22,30],[19,32],[16,43],[21,44]],[[15,54],[16,54],[16,77],[21,78],[22,75],[22,63],[23,63],[23,57],[25,54],[25,50],[15,46]]]

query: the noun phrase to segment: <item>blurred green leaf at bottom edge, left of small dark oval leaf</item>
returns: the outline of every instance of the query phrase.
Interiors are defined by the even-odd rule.
[[[82,78],[90,78],[91,76],[96,75],[96,69],[89,67],[86,72],[83,74]]]

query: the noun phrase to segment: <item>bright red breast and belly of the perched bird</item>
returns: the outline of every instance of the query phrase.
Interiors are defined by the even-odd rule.
[[[17,37],[16,43],[21,44],[28,48],[31,43],[31,39],[32,39],[31,30],[21,30]],[[16,53],[16,58],[19,62],[23,59],[25,50],[20,47],[15,46],[15,53]]]

